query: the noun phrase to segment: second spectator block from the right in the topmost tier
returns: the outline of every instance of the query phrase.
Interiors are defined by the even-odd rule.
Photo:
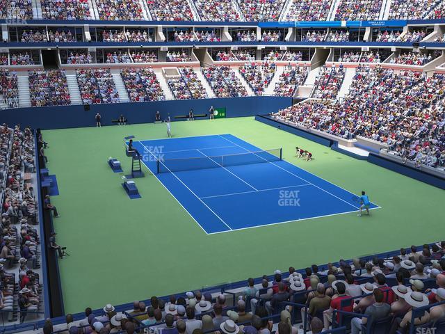
[[[341,0],[335,12],[335,21],[378,19],[382,0]]]

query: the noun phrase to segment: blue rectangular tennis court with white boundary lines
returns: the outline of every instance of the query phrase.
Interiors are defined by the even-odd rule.
[[[207,234],[357,212],[357,196],[231,134],[134,141]],[[378,205],[371,204],[371,209]]]

